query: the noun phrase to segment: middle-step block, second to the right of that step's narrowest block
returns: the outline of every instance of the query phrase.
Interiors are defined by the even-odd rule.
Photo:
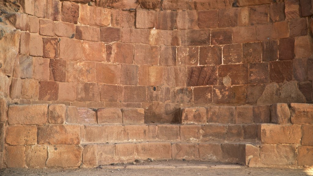
[[[187,142],[199,142],[201,138],[201,125],[180,126],[180,140]]]

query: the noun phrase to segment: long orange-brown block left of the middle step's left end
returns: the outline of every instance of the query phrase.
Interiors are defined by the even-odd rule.
[[[80,144],[80,127],[52,124],[40,126],[38,127],[38,144]]]

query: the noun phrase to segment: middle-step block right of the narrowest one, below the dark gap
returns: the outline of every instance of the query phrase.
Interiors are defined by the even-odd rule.
[[[157,125],[156,137],[159,140],[177,141],[179,140],[179,126],[178,125]]]

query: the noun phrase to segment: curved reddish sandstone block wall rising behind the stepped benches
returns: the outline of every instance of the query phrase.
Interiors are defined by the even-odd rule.
[[[11,103],[138,107],[146,122],[176,122],[184,106],[312,102],[310,0],[30,0],[20,8],[5,15],[21,30],[1,86]]]

